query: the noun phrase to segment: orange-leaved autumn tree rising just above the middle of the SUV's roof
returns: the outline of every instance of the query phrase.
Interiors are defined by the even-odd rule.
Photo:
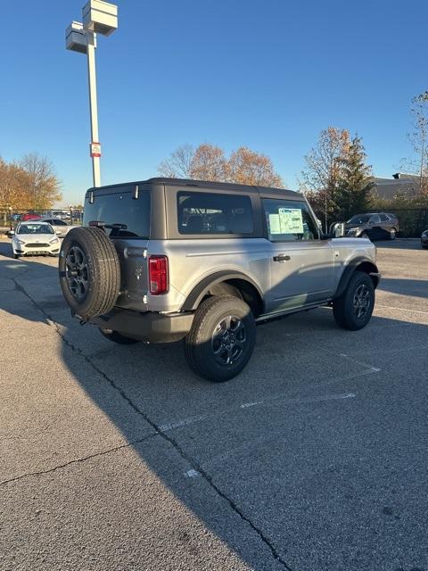
[[[275,172],[272,161],[266,154],[251,151],[241,146],[228,161],[228,177],[232,182],[253,186],[284,186],[282,178]]]

